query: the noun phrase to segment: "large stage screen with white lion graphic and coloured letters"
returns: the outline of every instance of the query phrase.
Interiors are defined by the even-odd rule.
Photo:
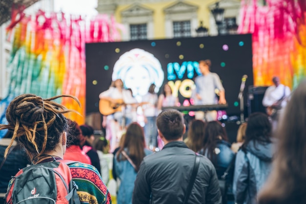
[[[194,79],[201,73],[198,61],[211,60],[228,103],[227,115],[240,115],[238,95],[242,79],[253,85],[252,37],[229,35],[200,38],[124,41],[86,44],[86,112],[99,112],[99,94],[112,79],[122,79],[141,101],[151,83],[156,91],[168,83],[181,105],[188,106]],[[244,77],[243,77],[244,76]],[[246,105],[244,91],[244,106]]]

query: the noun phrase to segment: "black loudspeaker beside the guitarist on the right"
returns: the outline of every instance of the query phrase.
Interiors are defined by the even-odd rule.
[[[266,113],[262,99],[269,86],[249,86],[247,94],[248,115],[254,112]]]

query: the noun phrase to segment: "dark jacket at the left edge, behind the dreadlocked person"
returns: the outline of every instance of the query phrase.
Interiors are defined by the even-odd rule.
[[[11,139],[0,139],[0,163],[3,162],[4,151],[11,142]],[[19,145],[14,144],[11,151],[7,155],[5,162],[0,168],[0,193],[6,193],[7,185],[12,176],[26,167],[30,162],[26,157],[25,151]]]

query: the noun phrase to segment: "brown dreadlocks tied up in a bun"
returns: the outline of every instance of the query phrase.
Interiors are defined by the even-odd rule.
[[[56,147],[61,134],[68,130],[67,120],[63,114],[76,112],[62,104],[52,102],[61,97],[72,98],[81,105],[79,100],[71,95],[42,99],[34,94],[22,94],[10,102],[6,110],[8,124],[0,124],[0,130],[13,131],[12,140],[4,152],[4,158],[16,138],[31,160]]]

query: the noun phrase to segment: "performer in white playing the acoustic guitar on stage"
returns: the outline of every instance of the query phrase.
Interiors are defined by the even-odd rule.
[[[125,104],[135,103],[136,99],[132,97],[131,92],[124,88],[121,79],[116,79],[112,81],[108,90],[102,92],[99,95],[100,99],[109,101],[110,104],[115,104],[115,112],[109,115],[103,115],[102,126],[106,128],[106,139],[109,140],[110,151],[117,147],[117,141],[120,140],[120,132],[122,127],[128,125],[125,116]],[[102,107],[110,108],[110,107]]]

